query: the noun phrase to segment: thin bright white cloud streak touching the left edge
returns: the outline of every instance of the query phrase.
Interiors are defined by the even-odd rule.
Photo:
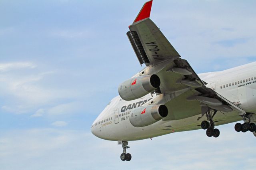
[[[0,63],[0,71],[10,71],[14,69],[24,69],[24,68],[35,68],[36,65],[30,62],[14,62],[14,63]]]

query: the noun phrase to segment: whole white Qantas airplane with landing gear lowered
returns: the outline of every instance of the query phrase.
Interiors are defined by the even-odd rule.
[[[150,20],[152,0],[129,26],[128,39],[140,65],[146,67],[118,87],[92,124],[92,133],[122,145],[128,141],[204,129],[217,138],[218,125],[236,123],[237,132],[256,136],[256,62],[224,71],[196,74]]]

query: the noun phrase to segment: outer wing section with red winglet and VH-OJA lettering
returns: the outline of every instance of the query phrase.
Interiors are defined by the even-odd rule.
[[[180,57],[156,24],[149,19],[151,6],[152,0],[144,4],[127,32],[140,64],[146,65]]]

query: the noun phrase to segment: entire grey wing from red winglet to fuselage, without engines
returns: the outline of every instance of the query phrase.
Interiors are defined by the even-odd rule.
[[[149,19],[152,0],[146,2],[129,26],[127,33],[140,64],[150,67],[158,75],[160,94],[152,104],[165,104],[168,114],[163,120],[178,120],[207,111],[225,114],[245,114],[240,107],[228,101],[213,89],[206,87],[188,61],[165,38],[159,28]],[[148,71],[149,73],[150,71]]]

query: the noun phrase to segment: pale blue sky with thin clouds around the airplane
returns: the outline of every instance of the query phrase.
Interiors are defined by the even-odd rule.
[[[126,36],[144,0],[0,1],[0,169],[254,169],[255,136],[231,123],[130,141],[90,127],[142,69]],[[154,0],[150,18],[196,73],[256,61],[253,0]]]

